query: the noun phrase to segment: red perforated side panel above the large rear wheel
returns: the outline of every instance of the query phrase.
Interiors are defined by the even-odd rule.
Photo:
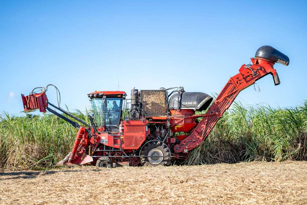
[[[138,149],[146,138],[146,120],[123,121],[124,149]]]

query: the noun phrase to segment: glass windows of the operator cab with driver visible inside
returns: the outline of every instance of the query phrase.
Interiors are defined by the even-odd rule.
[[[121,115],[121,98],[106,98],[103,103],[102,98],[93,98],[92,106],[94,112],[101,112],[98,115],[100,122],[104,122],[105,126],[118,127]]]

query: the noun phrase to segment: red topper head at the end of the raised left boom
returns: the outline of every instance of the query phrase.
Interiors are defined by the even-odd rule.
[[[21,98],[24,104],[24,112],[31,112],[37,109],[39,109],[40,112],[46,112],[48,98],[45,91],[39,94],[30,94],[28,96],[21,94]]]

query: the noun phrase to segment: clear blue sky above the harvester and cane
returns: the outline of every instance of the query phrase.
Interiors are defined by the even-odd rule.
[[[54,84],[61,107],[85,110],[94,90],[219,93],[263,45],[288,67],[242,91],[245,104],[307,100],[306,1],[1,1],[0,111],[23,110],[20,94]],[[56,104],[55,90],[47,93]],[[36,114],[38,111],[35,112]]]

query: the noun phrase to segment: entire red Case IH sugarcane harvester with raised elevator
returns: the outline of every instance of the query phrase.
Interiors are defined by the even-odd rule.
[[[78,128],[71,152],[58,166],[167,166],[187,159],[201,145],[240,91],[268,74],[279,85],[275,63],[288,66],[289,58],[271,46],[260,47],[251,64],[240,67],[212,104],[208,94],[185,92],[183,87],[132,89],[131,99],[124,91],[95,91],[88,94],[90,123],[51,104],[46,96],[49,85],[40,93],[33,89],[28,96],[22,94],[22,100],[25,112],[50,111]],[[196,114],[205,110],[205,114]]]

